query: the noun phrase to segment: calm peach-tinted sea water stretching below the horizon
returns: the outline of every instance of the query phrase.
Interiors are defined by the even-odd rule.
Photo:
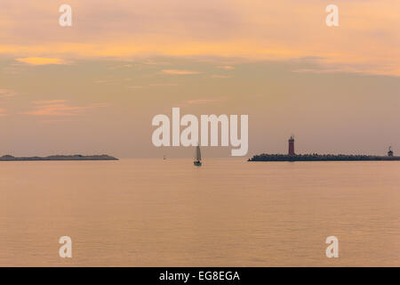
[[[400,266],[399,182],[396,161],[2,162],[0,265]]]

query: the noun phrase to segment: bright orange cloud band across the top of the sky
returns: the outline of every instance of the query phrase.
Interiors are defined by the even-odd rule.
[[[138,56],[320,58],[327,69],[399,75],[400,2],[69,1],[73,27],[58,25],[54,1],[3,0],[0,53],[31,64]],[[40,59],[52,58],[52,60]],[[24,61],[24,58],[28,58]]]

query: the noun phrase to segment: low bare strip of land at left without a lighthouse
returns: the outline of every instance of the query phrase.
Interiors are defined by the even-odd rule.
[[[37,160],[118,160],[107,154],[102,155],[52,155],[49,157],[21,157],[16,158],[12,155],[4,155],[0,157],[0,161],[37,161]]]

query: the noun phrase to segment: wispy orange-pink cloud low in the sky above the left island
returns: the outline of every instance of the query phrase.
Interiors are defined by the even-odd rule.
[[[24,112],[26,115],[33,116],[76,116],[85,110],[106,107],[105,104],[92,104],[90,106],[72,106],[66,100],[49,100],[33,102],[33,110]]]

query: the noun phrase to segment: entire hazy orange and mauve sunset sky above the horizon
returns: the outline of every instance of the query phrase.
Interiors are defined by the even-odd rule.
[[[72,7],[60,27],[59,7]],[[325,7],[339,7],[327,27]],[[0,155],[192,157],[157,114],[249,115],[249,152],[400,153],[398,0],[0,0]],[[206,148],[205,157],[229,157]]]

